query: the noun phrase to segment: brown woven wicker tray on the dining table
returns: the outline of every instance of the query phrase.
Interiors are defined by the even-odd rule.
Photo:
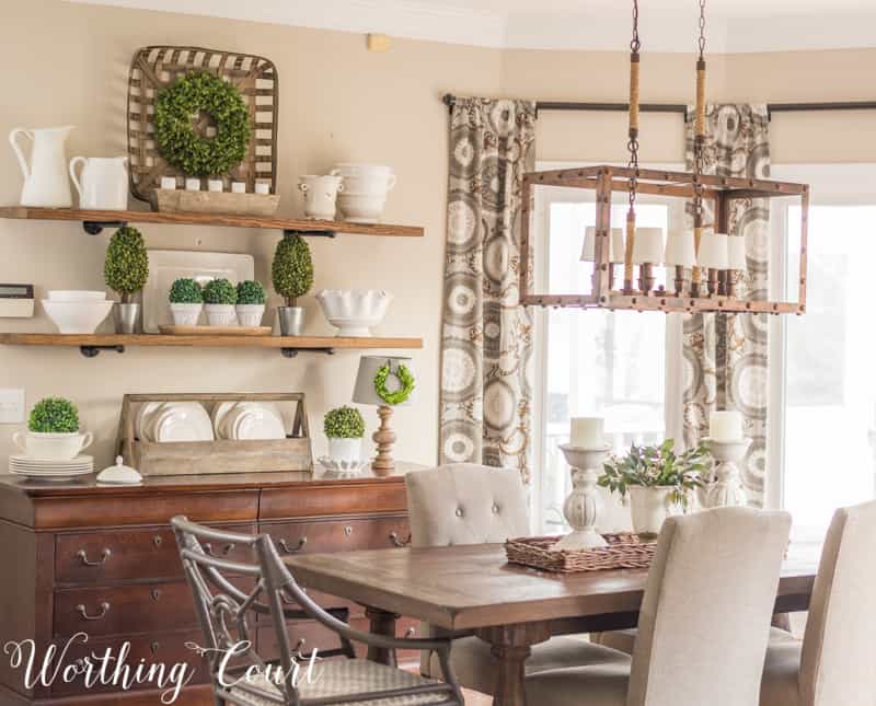
[[[574,574],[611,569],[646,569],[654,558],[656,543],[632,532],[603,534],[609,546],[593,549],[553,551],[562,537],[518,537],[505,543],[511,564],[522,564],[545,571]]]

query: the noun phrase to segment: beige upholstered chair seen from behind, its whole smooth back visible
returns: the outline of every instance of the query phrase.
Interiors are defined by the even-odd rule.
[[[632,658],[527,676],[531,704],[752,706],[758,703],[791,517],[718,508],[666,520]],[[602,648],[607,649],[608,648]]]

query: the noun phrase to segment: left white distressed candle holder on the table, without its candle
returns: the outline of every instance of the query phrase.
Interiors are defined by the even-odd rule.
[[[606,546],[606,540],[597,532],[599,517],[599,494],[596,482],[599,470],[609,455],[611,447],[581,449],[563,443],[560,449],[572,466],[572,494],[563,504],[563,514],[572,528],[572,532],[557,542],[554,549],[590,549]]]

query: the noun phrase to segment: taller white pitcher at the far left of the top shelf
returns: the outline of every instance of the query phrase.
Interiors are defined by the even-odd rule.
[[[16,127],[9,134],[9,142],[15,150],[21,172],[24,174],[22,206],[69,208],[73,205],[70,180],[67,176],[67,157],[64,153],[67,136],[72,129],[72,125],[44,129]],[[30,164],[15,139],[19,135],[30,138],[34,143]]]

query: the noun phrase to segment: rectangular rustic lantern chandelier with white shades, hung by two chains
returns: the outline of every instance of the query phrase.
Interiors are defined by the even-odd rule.
[[[537,306],[583,309],[631,309],[664,312],[769,312],[806,310],[806,241],[809,187],[806,184],[737,178],[704,174],[706,144],[705,104],[705,0],[700,0],[699,56],[696,58],[696,106],[694,114],[693,172],[643,170],[638,166],[639,66],[638,0],[633,0],[633,37],[630,43],[630,128],[625,169],[595,165],[533,172],[523,176],[522,232],[520,244],[520,303]],[[539,294],[531,291],[532,252],[530,220],[534,189],[561,186],[596,192],[596,227],[584,238],[581,259],[593,263],[592,290],[588,294]],[[625,229],[612,228],[612,195],[627,196]],[[667,242],[660,228],[636,227],[639,194],[668,196],[689,201],[692,229],[675,232]],[[798,197],[800,199],[799,293],[796,302],[740,298],[747,276],[746,238],[730,233],[733,210],[738,201]],[[711,202],[711,208],[706,205]],[[711,222],[710,222],[711,218]],[[737,230],[740,230],[737,228]],[[615,265],[623,265],[621,289]],[[667,285],[655,288],[655,267],[667,267]],[[636,268],[638,277],[635,278]],[[670,279],[670,269],[672,278]]]

